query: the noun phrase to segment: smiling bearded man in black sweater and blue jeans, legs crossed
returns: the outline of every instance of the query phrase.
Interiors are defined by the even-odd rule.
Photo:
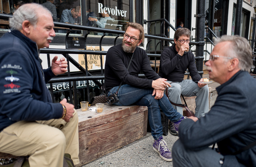
[[[128,23],[125,27],[122,44],[113,46],[108,50],[105,63],[106,92],[108,96],[117,93],[119,100],[114,102],[114,105],[148,106],[148,120],[154,138],[153,149],[165,161],[172,161],[172,153],[162,137],[160,109],[174,122],[176,130],[178,130],[184,117],[174,110],[164,94],[165,88],[171,85],[151,68],[144,49],[137,47],[143,40],[144,29],[142,25]],[[146,78],[138,77],[140,71],[144,73]],[[117,92],[121,83],[122,85]]]

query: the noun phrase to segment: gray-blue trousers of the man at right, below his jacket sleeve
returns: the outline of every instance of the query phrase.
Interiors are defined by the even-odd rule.
[[[221,167],[224,156],[215,150],[206,148],[200,151],[185,149],[180,139],[172,147],[174,167]]]

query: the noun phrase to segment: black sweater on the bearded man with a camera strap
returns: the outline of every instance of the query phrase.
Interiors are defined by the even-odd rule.
[[[152,88],[152,81],[160,78],[150,66],[150,61],[146,52],[137,47],[129,69],[132,53],[126,53],[122,50],[121,44],[111,47],[106,55],[105,62],[105,82],[106,92],[122,84],[129,84],[139,88]],[[147,79],[138,78],[142,71]]]

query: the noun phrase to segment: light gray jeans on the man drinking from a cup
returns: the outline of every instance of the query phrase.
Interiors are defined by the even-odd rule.
[[[187,79],[180,83],[171,83],[172,87],[168,88],[168,96],[169,99],[174,102],[181,104],[180,94],[183,96],[191,97],[196,96],[196,114],[197,118],[201,118],[207,112],[209,112],[209,88],[208,85],[200,88],[198,84],[194,81]],[[177,107],[172,105],[174,109],[176,109],[180,114],[183,114],[182,107]]]

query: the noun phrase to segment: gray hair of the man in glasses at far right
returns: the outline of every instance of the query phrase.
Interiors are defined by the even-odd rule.
[[[231,43],[226,50],[227,57],[238,58],[238,67],[242,71],[250,71],[252,67],[252,48],[247,39],[238,35],[223,35],[220,38],[215,38],[214,43],[228,41]]]

